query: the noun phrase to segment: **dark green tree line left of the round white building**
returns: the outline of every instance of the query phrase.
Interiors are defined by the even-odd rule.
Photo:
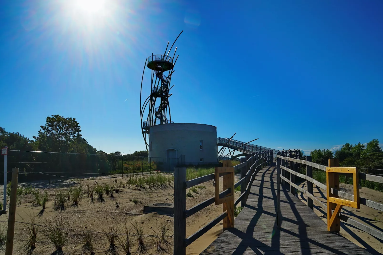
[[[8,153],[8,171],[18,167],[19,171],[26,172],[116,173],[128,168],[139,172],[141,169],[135,168],[138,165],[142,168],[142,161],[147,162],[142,157],[148,155],[146,150],[125,155],[118,151],[108,154],[97,150],[82,137],[81,127],[75,118],[60,115],[48,116],[33,139],[0,127],[0,146],[18,150]],[[4,157],[1,157],[0,162],[3,160]],[[132,160],[133,169],[130,167]],[[38,179],[44,178],[39,176]]]

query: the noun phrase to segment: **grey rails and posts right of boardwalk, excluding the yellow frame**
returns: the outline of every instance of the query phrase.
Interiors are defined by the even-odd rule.
[[[317,187],[321,188],[322,190],[327,191],[327,185],[314,180],[313,179],[313,167],[317,168],[321,171],[326,172],[326,166],[324,165],[319,165],[317,163],[311,162],[311,157],[306,157],[306,160],[301,160],[296,157],[296,153],[294,151],[282,151],[278,152],[277,154],[277,226],[280,228],[282,224],[282,213],[281,213],[281,207],[280,207],[280,185],[285,186],[287,190],[290,190],[292,194],[296,194],[296,190],[304,193],[307,196],[307,205],[309,208],[312,210],[314,209],[314,204],[317,204],[321,208],[324,209],[324,211],[327,211],[327,204],[322,203],[318,198],[316,198],[313,194],[313,184],[315,184]],[[290,162],[290,163],[288,163]],[[306,175],[302,173],[296,172],[295,168],[299,166],[299,164],[306,165]],[[337,160],[336,159],[330,159],[329,160],[329,167],[338,167],[337,165]],[[345,176],[350,176],[350,174],[346,173],[339,173],[340,175],[345,175]],[[298,176],[300,178],[303,178],[304,180],[307,181],[307,189],[305,190],[304,188],[301,188],[300,186],[295,184],[295,176]],[[338,177],[339,178],[339,177]],[[366,173],[358,173],[358,178],[359,180],[368,180],[368,181],[374,181],[378,183],[383,183],[383,177],[377,176],[377,175],[369,175]],[[339,179],[338,179],[339,183]],[[329,185],[329,183],[327,183]],[[356,185],[358,188],[358,185]],[[354,201],[354,195],[340,191],[339,190],[339,185],[334,186],[334,188],[331,188],[331,197],[343,197],[345,199]],[[383,204],[378,203],[376,201],[372,201],[366,198],[359,198],[359,203],[363,204],[365,206],[368,206],[370,208],[374,208],[379,211],[383,211]],[[334,208],[331,208],[331,212],[334,210]],[[363,224],[360,221],[356,221],[354,219],[351,219],[350,217],[339,213],[337,216],[338,219],[345,221],[352,226],[363,230],[367,232],[368,234],[379,238],[380,240],[383,240],[383,232],[374,229],[370,226],[367,226]],[[327,219],[329,221],[329,219]],[[339,232],[340,230],[340,222],[339,224],[334,224],[334,227],[331,229],[331,231],[336,231]]]

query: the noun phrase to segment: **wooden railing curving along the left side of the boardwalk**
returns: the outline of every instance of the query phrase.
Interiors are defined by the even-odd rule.
[[[174,168],[174,251],[173,254],[177,255],[185,255],[186,247],[194,242],[196,239],[201,237],[201,235],[205,234],[208,230],[218,224],[220,221],[224,221],[223,228],[226,227],[234,227],[234,219],[231,219],[231,215],[234,215],[234,207],[241,202],[241,206],[246,204],[247,197],[249,196],[251,185],[254,181],[255,175],[262,169],[265,165],[269,165],[273,162],[273,151],[263,151],[257,154],[253,154],[246,162],[243,162],[239,165],[231,167],[231,160],[224,160],[223,167],[216,167],[216,173],[220,172],[219,170],[223,170],[226,173],[219,173],[219,177],[226,176],[234,173],[240,173],[241,179],[234,184],[234,178],[226,178],[227,181],[232,181],[231,187],[234,186],[234,189],[238,186],[241,186],[241,195],[234,202],[234,190],[232,188],[227,188],[223,190],[221,193],[216,192],[216,196],[213,196],[209,199],[206,199],[200,204],[193,206],[192,208],[186,209],[186,189],[191,188],[193,186],[199,185],[206,181],[210,180],[218,180],[219,178],[215,178],[216,173],[212,173],[210,175],[205,175],[202,177],[195,178],[193,180],[186,180],[186,168],[185,167],[175,167]],[[231,168],[228,170],[219,169],[219,168]],[[215,183],[215,185],[219,185],[219,183]],[[225,186],[225,177],[224,177],[224,186]],[[230,186],[230,185],[229,185]],[[199,229],[194,234],[190,235],[186,238],[186,218],[195,214],[198,211],[210,206],[210,204],[217,203],[217,201],[223,201],[224,198],[233,199],[230,201],[234,202],[234,206],[226,205],[229,201],[224,201],[223,203],[223,213],[218,217],[213,219],[213,221],[206,224],[204,227]],[[228,210],[230,210],[228,212]],[[230,222],[230,224],[229,224]]]

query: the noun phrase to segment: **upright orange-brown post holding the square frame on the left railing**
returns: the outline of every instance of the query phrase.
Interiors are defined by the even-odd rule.
[[[249,165],[249,163],[247,164]],[[223,167],[231,167],[231,160],[223,160]],[[228,188],[231,188],[231,193],[234,194],[234,174],[228,174],[223,176],[222,180],[222,190],[227,190]],[[243,201],[244,199],[242,199]],[[242,206],[241,201],[241,206]],[[230,201],[227,201],[226,203],[222,204],[222,212],[228,211],[228,216],[226,216],[223,219],[222,227],[223,229],[226,229],[228,227],[234,227],[234,199],[231,199]],[[233,216],[233,220],[230,221],[229,215]]]

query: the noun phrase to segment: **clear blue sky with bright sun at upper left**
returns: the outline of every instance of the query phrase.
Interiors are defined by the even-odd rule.
[[[382,1],[14,0],[0,7],[7,131],[32,137],[60,114],[76,118],[97,149],[144,149],[145,59],[184,30],[175,45],[173,121],[211,124],[219,137],[236,132],[234,139],[259,138],[274,149],[383,142]]]

